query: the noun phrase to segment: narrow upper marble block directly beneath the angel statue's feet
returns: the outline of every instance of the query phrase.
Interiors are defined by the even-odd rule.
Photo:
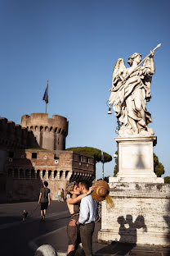
[[[119,178],[156,178],[153,146],[156,136],[115,138],[118,143]]]

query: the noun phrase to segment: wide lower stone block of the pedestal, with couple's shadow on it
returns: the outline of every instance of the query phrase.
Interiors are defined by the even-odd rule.
[[[170,246],[170,185],[110,177],[110,196],[114,208],[102,202],[99,241]]]

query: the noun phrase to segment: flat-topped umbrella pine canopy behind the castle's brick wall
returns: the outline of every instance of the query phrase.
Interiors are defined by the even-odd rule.
[[[91,147],[76,147],[76,148],[69,148],[66,149],[69,151],[74,151],[75,153],[82,153],[88,156],[92,156],[95,158],[96,162],[103,162],[101,159],[101,150],[100,149],[94,149]],[[112,161],[112,157],[109,153],[104,152],[104,162],[110,162]]]

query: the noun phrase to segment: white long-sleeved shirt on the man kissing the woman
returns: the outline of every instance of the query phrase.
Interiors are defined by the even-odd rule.
[[[80,213],[78,222],[81,224],[96,221],[96,205],[97,203],[92,199],[92,195],[88,194],[81,200]]]

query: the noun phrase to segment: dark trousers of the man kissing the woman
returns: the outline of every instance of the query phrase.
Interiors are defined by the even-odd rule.
[[[86,256],[92,256],[92,234],[95,229],[95,222],[80,226],[80,236],[83,250]]]

